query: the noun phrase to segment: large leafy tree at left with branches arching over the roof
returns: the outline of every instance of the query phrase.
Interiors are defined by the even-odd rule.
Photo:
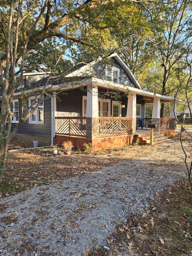
[[[130,27],[131,20],[136,16],[137,8],[129,1],[123,0],[10,0],[10,3],[1,1],[1,177],[7,158],[8,143],[13,134],[42,101],[52,96],[52,92],[46,90],[52,74],[65,73],[67,70],[63,71],[61,67],[65,64],[70,67],[71,59],[78,56],[80,46],[88,51],[86,57],[89,60],[98,56],[107,59],[107,56],[118,47],[114,35],[117,35],[120,29],[126,30]],[[42,58],[47,49],[48,65]],[[35,104],[30,112],[26,111],[11,133],[13,113],[10,111],[10,105],[14,92],[22,84],[23,72],[28,68],[31,71],[40,68],[49,70],[49,78],[41,90],[38,104]],[[16,79],[17,74],[20,74],[19,80]]]

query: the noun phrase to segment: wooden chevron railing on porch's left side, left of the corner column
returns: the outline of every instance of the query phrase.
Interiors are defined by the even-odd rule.
[[[86,117],[55,117],[55,134],[86,137]]]

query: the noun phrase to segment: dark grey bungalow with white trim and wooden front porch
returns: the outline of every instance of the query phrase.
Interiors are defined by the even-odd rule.
[[[91,143],[94,150],[108,149],[134,141],[137,119],[155,123],[156,132],[175,134],[174,109],[176,102],[181,100],[174,101],[172,97],[143,90],[118,54],[112,54],[109,60],[107,64],[101,58],[81,63],[63,79],[51,78],[47,88],[53,91],[52,97],[38,106],[19,128],[16,138],[39,140],[46,145],[53,139],[58,145],[71,140],[76,148]],[[25,82],[15,92],[11,106],[14,112],[12,129],[22,116],[21,92],[29,96],[27,104],[31,107],[38,99],[32,87],[41,89],[48,74],[28,73],[24,76]],[[54,91],[59,88],[61,91],[56,95]],[[167,102],[171,103],[170,118],[160,118],[160,105]],[[147,103],[153,103],[150,119],[145,119]]]

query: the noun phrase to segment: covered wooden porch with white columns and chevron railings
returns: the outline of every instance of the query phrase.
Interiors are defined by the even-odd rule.
[[[176,127],[174,99],[162,95],[146,96],[152,93],[143,90],[135,92],[135,90],[138,89],[130,90],[126,102],[124,99],[124,102],[114,104],[113,101],[98,98],[98,87],[91,86],[81,99],[82,116],[61,116],[55,104],[55,143],[61,145],[64,140],[71,140],[77,149],[82,148],[84,143],[91,143],[94,150],[130,145],[140,131],[150,132],[149,128],[136,130],[137,119],[142,119],[147,125],[155,123],[156,132],[172,131],[171,134],[174,134]],[[107,102],[103,104],[103,112],[101,102]],[[160,118],[162,102],[171,102],[169,118]],[[151,118],[144,116],[146,103],[153,103]],[[108,108],[111,109],[109,112],[107,112]],[[103,116],[109,114],[110,116]]]

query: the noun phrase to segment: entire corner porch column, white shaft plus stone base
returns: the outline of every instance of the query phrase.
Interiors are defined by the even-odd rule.
[[[89,89],[90,88],[90,89]],[[99,111],[98,111],[98,87],[92,85],[87,91],[86,109],[86,138],[97,139],[99,137]]]

